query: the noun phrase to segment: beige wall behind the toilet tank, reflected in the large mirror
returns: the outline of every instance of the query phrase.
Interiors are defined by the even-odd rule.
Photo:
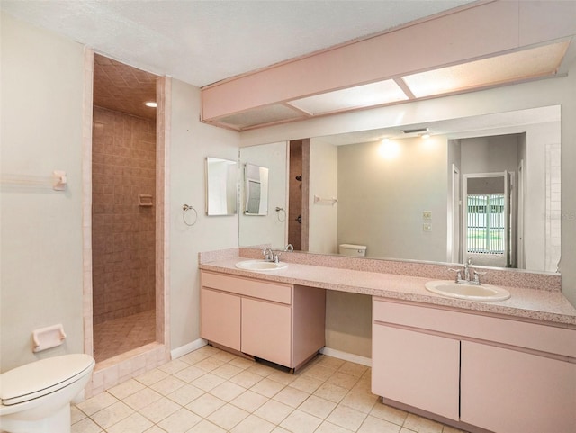
[[[338,148],[338,243],[365,245],[368,257],[445,261],[446,137],[395,142],[394,158],[379,141]]]

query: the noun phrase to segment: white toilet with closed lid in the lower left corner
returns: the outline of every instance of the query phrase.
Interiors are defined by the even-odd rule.
[[[85,354],[53,356],[0,374],[0,431],[69,433],[70,402],[94,370]]]

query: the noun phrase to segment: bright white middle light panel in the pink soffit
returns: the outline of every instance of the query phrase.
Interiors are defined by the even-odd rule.
[[[392,79],[369,85],[349,87],[321,95],[309,96],[290,101],[288,104],[306,113],[321,114],[391,104],[405,101],[408,96]]]

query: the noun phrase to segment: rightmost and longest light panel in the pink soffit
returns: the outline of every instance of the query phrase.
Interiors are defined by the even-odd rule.
[[[560,67],[570,41],[556,42],[489,59],[402,77],[417,97],[442,95],[482,86],[552,75]]]

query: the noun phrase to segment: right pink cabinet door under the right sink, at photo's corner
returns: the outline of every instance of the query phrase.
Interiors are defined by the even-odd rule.
[[[576,364],[463,341],[462,420],[499,433],[571,433]]]

